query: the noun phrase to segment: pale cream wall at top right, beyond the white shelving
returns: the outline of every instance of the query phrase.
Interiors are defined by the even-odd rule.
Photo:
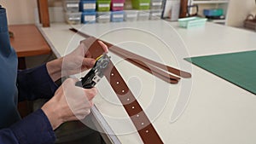
[[[227,25],[243,26],[243,20],[246,20],[247,14],[256,9],[255,0],[230,0]]]

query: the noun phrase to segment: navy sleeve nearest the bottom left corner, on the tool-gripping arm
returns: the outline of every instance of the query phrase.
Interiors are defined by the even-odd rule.
[[[41,109],[7,129],[0,130],[0,144],[53,144],[55,133]]]

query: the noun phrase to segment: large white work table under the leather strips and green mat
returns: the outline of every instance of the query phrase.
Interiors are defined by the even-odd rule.
[[[69,31],[70,27],[59,23],[40,28],[57,57],[66,55],[84,39]],[[164,20],[75,27],[148,59],[191,72],[192,78],[167,84],[109,53],[164,143],[256,143],[256,95],[183,60],[256,50],[255,32],[212,23],[187,30]],[[99,94],[95,106],[115,138],[121,143],[142,143],[108,81],[103,78],[96,87]]]

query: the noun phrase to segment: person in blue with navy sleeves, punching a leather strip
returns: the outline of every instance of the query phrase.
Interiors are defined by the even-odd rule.
[[[87,38],[69,55],[36,68],[17,71],[17,56],[9,43],[6,10],[0,6],[0,144],[54,143],[54,130],[62,123],[82,119],[90,113],[96,88],[75,86],[78,79],[67,78],[60,88],[57,79],[92,67],[95,60],[86,58]],[[102,49],[107,46],[99,42]],[[63,63],[63,61],[65,64]],[[17,102],[50,98],[41,109],[20,119]],[[70,107],[72,108],[70,108]]]

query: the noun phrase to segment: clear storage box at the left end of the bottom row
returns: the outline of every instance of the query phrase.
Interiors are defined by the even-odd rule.
[[[77,25],[81,23],[81,12],[66,12],[65,20],[70,25]]]

